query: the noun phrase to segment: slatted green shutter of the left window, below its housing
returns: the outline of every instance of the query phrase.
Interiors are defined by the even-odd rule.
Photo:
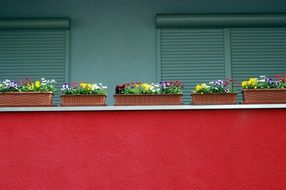
[[[0,30],[0,80],[68,80],[69,30]],[[59,97],[55,97],[58,103]]]

